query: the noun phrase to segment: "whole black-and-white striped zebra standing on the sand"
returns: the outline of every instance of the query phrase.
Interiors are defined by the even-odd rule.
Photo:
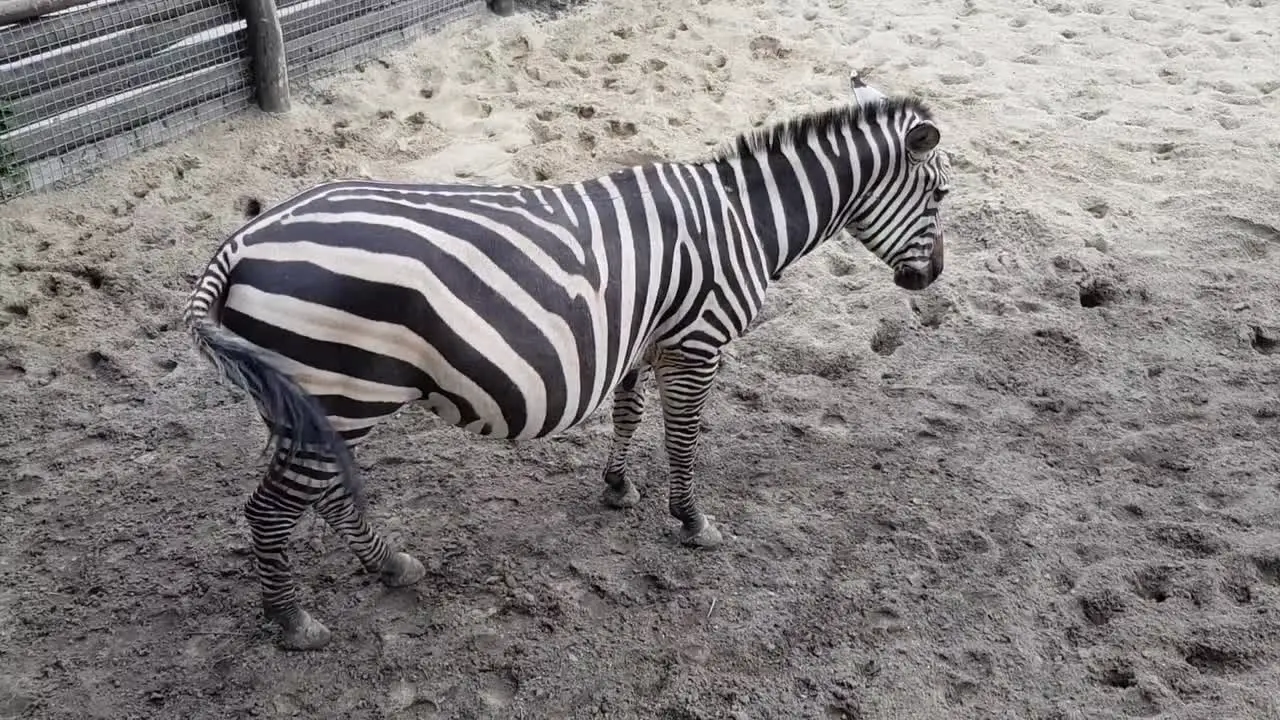
[[[919,291],[942,273],[950,160],[914,96],[850,76],[854,102],[739,135],[709,158],[562,184],[342,179],[227,237],[183,310],[196,351],[252,397],[268,470],[247,520],[262,612],[284,650],[330,630],[287,553],[314,509],[387,587],[422,564],[366,520],[355,448],[422,402],[475,434],[563,433],[612,395],[602,501],[635,506],[631,441],[657,379],[667,502],[684,546],[722,534],[694,493],[721,351],[783,270],[847,231]]]

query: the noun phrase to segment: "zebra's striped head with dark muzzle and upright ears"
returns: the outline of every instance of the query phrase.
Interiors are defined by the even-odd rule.
[[[868,132],[876,137],[859,143],[863,167],[879,173],[864,178],[861,202],[846,225],[850,234],[893,269],[893,283],[904,290],[924,290],[942,274],[942,222],[938,206],[951,190],[951,161],[937,150],[942,135],[933,120],[913,105],[887,106],[883,92],[863,82],[858,70],[849,76],[854,101],[873,118]]]

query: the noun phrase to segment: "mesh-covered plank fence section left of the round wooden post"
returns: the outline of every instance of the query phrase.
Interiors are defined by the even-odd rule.
[[[0,200],[247,106],[238,15],[228,0],[119,0],[0,28]]]

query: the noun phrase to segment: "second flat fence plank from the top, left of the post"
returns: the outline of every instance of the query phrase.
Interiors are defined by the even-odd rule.
[[[138,60],[197,32],[233,22],[227,5],[205,8],[164,23],[142,26],[108,40],[12,68],[0,79],[0,101],[58,87],[82,76]]]

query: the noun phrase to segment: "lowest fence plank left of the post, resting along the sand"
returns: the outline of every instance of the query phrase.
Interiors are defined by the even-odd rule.
[[[170,113],[131,131],[83,145],[70,152],[37,160],[17,178],[0,178],[0,199],[27,191],[59,187],[86,179],[95,168],[129,158],[140,150],[183,137],[210,122],[219,120],[250,105],[253,88],[244,83],[220,97]]]

